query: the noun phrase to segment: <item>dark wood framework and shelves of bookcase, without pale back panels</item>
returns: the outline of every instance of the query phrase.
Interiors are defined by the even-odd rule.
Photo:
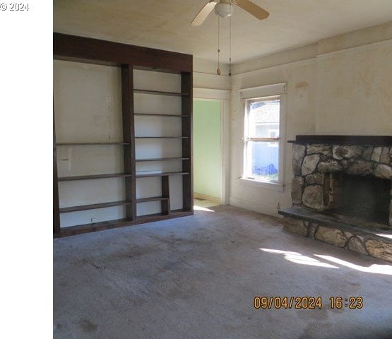
[[[87,37],[76,37],[54,33],[54,59],[65,61],[84,62],[87,64],[100,64],[117,66],[121,68],[121,101],[123,142],[97,142],[97,143],[56,143],[56,134],[53,124],[53,232],[54,237],[67,237],[74,234],[109,230],[115,227],[138,225],[143,222],[153,222],[170,218],[179,218],[192,215],[193,211],[193,184],[192,184],[192,73],[193,59],[189,54],[162,51],[145,47],[136,47],[129,44],[119,44],[104,40],[90,39]],[[166,73],[177,73],[181,76],[181,91],[165,92],[157,90],[142,90],[133,88],[133,69],[148,71],[162,71]],[[148,95],[170,95],[181,97],[181,114],[143,114],[133,111],[133,95],[142,93]],[[135,136],[135,117],[175,117],[182,119],[182,136]],[[54,117],[54,114],[53,114]],[[135,141],[141,138],[179,138],[182,140],[181,157],[163,157],[152,159],[136,159]],[[124,172],[112,174],[91,174],[72,177],[57,176],[57,147],[78,145],[123,145]],[[147,161],[182,161],[182,171],[179,172],[139,172],[136,173],[136,162]],[[183,208],[181,210],[170,209],[170,176],[182,175],[182,198]],[[84,206],[71,206],[59,208],[58,182],[75,180],[105,179],[113,177],[124,177],[125,200],[112,201],[108,203],[97,203]],[[147,198],[136,198],[136,179],[145,177],[161,177],[162,196]],[[150,201],[160,201],[161,213],[152,215],[136,215],[136,204]],[[60,227],[60,213],[76,212],[78,210],[89,210],[94,208],[107,208],[113,206],[125,206],[126,218],[120,220],[109,220],[94,224],[76,225],[72,227]]]

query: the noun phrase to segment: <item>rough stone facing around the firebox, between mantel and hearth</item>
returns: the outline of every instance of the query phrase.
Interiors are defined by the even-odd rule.
[[[292,203],[327,210],[338,203],[338,174],[392,180],[392,148],[367,145],[294,144]],[[392,191],[389,208],[392,226]]]

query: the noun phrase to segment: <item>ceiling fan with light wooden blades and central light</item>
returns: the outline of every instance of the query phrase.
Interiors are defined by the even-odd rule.
[[[191,25],[201,25],[208,17],[208,14],[213,11],[213,9],[215,9],[215,14],[222,18],[232,16],[234,5],[239,6],[240,8],[244,9],[244,11],[247,11],[259,20],[266,19],[270,15],[270,13],[268,13],[266,10],[249,0],[210,0],[206,6],[201,8],[201,11],[198,12],[194,20],[192,20]]]

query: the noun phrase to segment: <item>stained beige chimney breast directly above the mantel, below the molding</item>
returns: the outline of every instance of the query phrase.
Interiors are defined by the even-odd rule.
[[[317,58],[316,133],[391,135],[392,43]]]

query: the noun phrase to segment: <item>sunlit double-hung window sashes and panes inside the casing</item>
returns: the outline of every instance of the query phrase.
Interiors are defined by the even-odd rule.
[[[281,96],[245,102],[244,179],[278,183],[280,178]]]

